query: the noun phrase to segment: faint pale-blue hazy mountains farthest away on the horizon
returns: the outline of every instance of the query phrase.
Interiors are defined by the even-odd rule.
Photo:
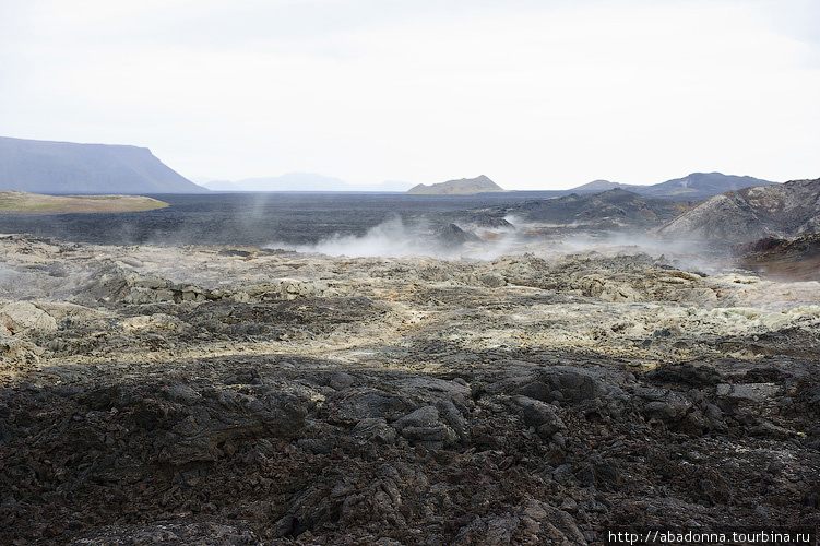
[[[409,182],[384,181],[378,185],[352,185],[338,178],[314,173],[288,173],[277,177],[242,180],[211,180],[202,185],[213,191],[406,191]]]

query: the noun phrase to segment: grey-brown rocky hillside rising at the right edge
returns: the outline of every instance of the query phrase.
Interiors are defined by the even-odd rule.
[[[820,232],[820,178],[713,197],[661,226],[662,237],[752,241]]]

